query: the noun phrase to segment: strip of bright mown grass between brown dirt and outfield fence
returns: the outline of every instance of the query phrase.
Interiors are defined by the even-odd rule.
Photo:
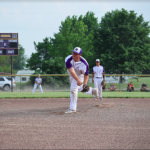
[[[70,92],[1,92],[0,98],[69,98]],[[93,96],[79,92],[80,98],[92,98]],[[103,92],[103,98],[150,98],[150,92]]]

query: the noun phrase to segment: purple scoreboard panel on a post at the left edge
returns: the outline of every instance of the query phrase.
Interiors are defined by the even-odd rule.
[[[0,33],[0,56],[17,56],[18,33]]]

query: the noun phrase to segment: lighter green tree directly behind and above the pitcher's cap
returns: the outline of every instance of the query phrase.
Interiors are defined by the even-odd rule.
[[[83,56],[88,57],[92,55],[92,34],[86,34],[88,26],[82,20],[78,20],[76,16],[70,18],[69,16],[65,21],[61,22],[59,33],[55,34],[55,50],[58,52],[57,56],[65,58],[67,55],[72,54],[75,47],[81,47]]]

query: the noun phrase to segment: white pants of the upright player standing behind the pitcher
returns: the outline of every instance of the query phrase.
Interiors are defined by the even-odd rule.
[[[99,97],[102,97],[102,86],[101,83],[103,78],[94,78],[94,87],[98,89]]]

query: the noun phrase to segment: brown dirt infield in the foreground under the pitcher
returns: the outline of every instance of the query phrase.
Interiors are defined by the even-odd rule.
[[[69,101],[0,99],[0,149],[150,149],[150,99]]]

